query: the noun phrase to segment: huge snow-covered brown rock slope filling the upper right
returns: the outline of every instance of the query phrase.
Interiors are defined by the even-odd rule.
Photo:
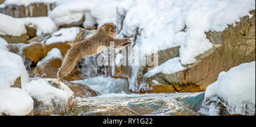
[[[142,55],[156,52],[171,54],[178,48],[176,56],[163,57],[163,53],[160,54],[162,60],[159,61],[163,62],[155,69],[156,73],[147,73],[147,67],[123,66],[121,72],[127,71],[131,91],[139,92],[146,88],[141,80],[145,73],[152,76],[149,80],[143,77],[148,84],[154,79],[163,85],[177,84],[175,88],[178,91],[204,91],[216,81],[221,71],[243,62],[255,61],[255,1],[252,0],[128,0],[117,6],[116,19],[116,36],[131,37]],[[154,49],[156,47],[158,50]],[[129,58],[133,59],[133,55]],[[172,61],[171,65],[166,66],[167,63],[163,64],[165,61]]]

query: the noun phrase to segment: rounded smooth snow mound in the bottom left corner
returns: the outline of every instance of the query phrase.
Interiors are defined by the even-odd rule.
[[[27,115],[32,111],[33,104],[33,99],[26,91],[20,88],[1,88],[0,84],[0,115]]]

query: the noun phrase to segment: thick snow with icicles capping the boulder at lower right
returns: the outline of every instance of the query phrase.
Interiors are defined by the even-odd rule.
[[[230,114],[245,115],[244,107],[255,113],[255,61],[222,71],[217,81],[207,87],[204,101],[216,96],[227,103]]]

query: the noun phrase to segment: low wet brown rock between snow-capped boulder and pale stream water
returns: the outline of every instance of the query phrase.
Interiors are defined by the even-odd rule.
[[[79,83],[68,83],[68,87],[74,92],[74,96],[80,98],[87,98],[89,96],[98,96],[97,91],[92,90],[90,87]]]

